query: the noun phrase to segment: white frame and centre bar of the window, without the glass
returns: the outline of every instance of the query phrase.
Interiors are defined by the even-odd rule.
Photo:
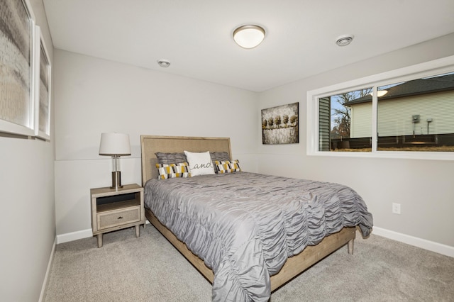
[[[331,157],[385,157],[419,160],[454,160],[454,152],[429,151],[379,151],[377,150],[377,87],[397,82],[407,82],[436,74],[454,72],[454,55],[438,60],[423,62],[409,67],[394,69],[389,72],[374,74],[369,77],[353,79],[307,91],[306,99],[306,153],[310,156]],[[319,99],[372,87],[372,151],[371,152],[330,152],[319,151]]]

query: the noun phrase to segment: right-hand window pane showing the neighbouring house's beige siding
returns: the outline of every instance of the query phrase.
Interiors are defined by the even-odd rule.
[[[454,152],[454,72],[379,89],[377,150]]]

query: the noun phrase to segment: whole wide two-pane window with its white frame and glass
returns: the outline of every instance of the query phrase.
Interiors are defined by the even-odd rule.
[[[454,159],[454,56],[307,96],[308,155]]]

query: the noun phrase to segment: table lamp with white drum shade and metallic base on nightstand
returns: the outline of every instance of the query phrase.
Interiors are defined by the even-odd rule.
[[[122,188],[120,172],[120,156],[131,155],[129,135],[123,133],[101,133],[99,155],[112,157],[112,186],[111,189]]]

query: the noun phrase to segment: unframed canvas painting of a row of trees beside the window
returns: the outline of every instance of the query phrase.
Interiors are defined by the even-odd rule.
[[[299,103],[262,109],[262,144],[299,143]]]

